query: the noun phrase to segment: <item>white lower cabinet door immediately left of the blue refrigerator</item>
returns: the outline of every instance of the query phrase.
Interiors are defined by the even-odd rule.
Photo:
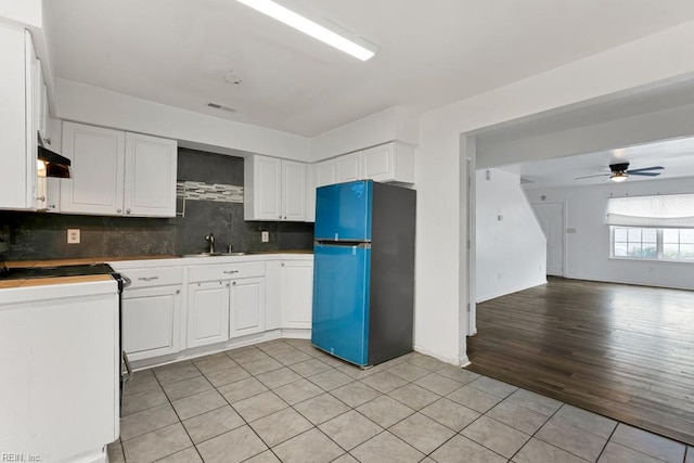
[[[282,262],[282,327],[310,329],[313,304],[313,262]]]

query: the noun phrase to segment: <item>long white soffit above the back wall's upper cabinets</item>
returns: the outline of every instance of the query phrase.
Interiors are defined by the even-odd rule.
[[[55,117],[95,126],[176,139],[195,146],[216,146],[310,162],[305,137],[234,123],[178,107],[57,79]],[[218,150],[219,151],[219,150]]]

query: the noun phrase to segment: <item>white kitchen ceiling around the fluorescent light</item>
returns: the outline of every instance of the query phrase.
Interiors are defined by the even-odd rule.
[[[394,105],[437,107],[694,20],[691,0],[290,1],[378,53],[362,63],[234,0],[51,0],[55,75],[311,137]],[[230,70],[241,85],[224,82]]]

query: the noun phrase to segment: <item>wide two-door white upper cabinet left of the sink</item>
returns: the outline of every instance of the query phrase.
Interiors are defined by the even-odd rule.
[[[62,213],[176,216],[176,141],[63,123],[63,155]]]

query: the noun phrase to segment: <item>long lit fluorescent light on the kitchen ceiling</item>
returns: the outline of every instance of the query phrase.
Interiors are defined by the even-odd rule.
[[[314,39],[327,43],[331,47],[335,47],[337,50],[342,50],[345,53],[367,61],[376,54],[376,47],[362,40],[358,37],[346,38],[343,35],[334,33],[325,26],[322,26],[311,20],[308,20],[300,14],[288,10],[281,4],[278,4],[271,0],[237,0],[239,2],[267,14],[268,16],[278,20],[287,26],[292,26],[304,34],[307,34]]]

